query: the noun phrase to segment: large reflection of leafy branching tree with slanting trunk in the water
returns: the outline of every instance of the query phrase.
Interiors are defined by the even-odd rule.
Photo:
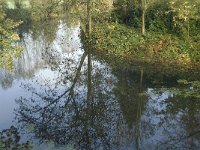
[[[88,69],[84,64],[87,56]],[[32,128],[42,140],[72,144],[81,149],[109,149],[111,129],[115,128],[113,109],[117,107],[111,105],[112,99],[106,101],[112,95],[110,87],[101,83],[101,70],[94,73],[91,63],[91,55],[84,52],[77,67],[69,68],[64,65],[66,62],[59,65],[59,77],[54,85],[47,82],[40,89],[24,85],[32,94],[17,100],[17,118],[21,125]],[[110,79],[104,81],[107,80]]]

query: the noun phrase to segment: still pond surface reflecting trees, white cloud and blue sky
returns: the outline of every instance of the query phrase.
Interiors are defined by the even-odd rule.
[[[0,136],[12,133],[9,146],[200,149],[200,100],[157,92],[178,77],[113,67],[82,48],[79,22],[36,24],[19,44],[13,73],[0,71]]]

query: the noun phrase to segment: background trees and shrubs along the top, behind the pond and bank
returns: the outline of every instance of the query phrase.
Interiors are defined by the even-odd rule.
[[[9,6],[11,3],[12,7]],[[198,41],[200,37],[199,0],[1,0],[1,49],[8,51],[11,47],[6,48],[6,45],[18,40],[14,30],[20,21],[31,24],[68,14],[80,18],[89,32],[94,26],[92,22],[115,22],[130,26],[143,35],[151,31],[150,34],[169,33],[193,41]],[[5,56],[3,50],[1,55],[2,58]],[[9,55],[8,62],[12,57]]]

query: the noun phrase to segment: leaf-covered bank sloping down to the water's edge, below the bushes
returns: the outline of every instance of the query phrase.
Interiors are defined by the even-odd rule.
[[[130,69],[137,66],[167,74],[175,70],[176,73],[200,72],[200,44],[196,37],[187,41],[159,32],[143,36],[131,27],[116,23],[96,24],[90,39],[84,32],[81,36],[85,49],[90,48],[101,59],[113,61],[113,67]]]

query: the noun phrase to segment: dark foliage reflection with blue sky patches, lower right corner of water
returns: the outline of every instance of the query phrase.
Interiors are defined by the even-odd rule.
[[[200,148],[200,101],[174,95],[167,90],[148,91],[150,98],[147,107],[149,116],[155,115],[151,123],[157,130],[157,148],[199,149]]]

